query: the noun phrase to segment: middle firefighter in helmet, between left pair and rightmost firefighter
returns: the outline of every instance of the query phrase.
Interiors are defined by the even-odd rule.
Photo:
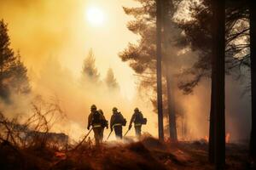
[[[113,115],[111,116],[111,119],[110,119],[111,132],[114,129],[116,139],[122,139],[123,138],[122,127],[126,125],[126,120],[116,107],[113,107],[112,111],[113,111]]]

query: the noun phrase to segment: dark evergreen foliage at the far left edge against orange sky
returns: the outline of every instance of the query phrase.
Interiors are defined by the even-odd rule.
[[[26,67],[10,46],[7,24],[0,20],[0,98],[9,101],[11,94],[30,92]]]

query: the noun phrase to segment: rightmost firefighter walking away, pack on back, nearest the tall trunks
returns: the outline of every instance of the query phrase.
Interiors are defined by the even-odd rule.
[[[132,122],[134,123],[135,133],[137,137],[142,135],[142,125],[147,123],[147,119],[143,118],[143,113],[135,108],[133,115],[131,116],[131,121],[129,124],[129,130],[132,127]]]

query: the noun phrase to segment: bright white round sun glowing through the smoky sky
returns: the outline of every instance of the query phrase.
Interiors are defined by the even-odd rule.
[[[102,26],[105,20],[102,9],[96,7],[87,8],[85,17],[92,26]]]

